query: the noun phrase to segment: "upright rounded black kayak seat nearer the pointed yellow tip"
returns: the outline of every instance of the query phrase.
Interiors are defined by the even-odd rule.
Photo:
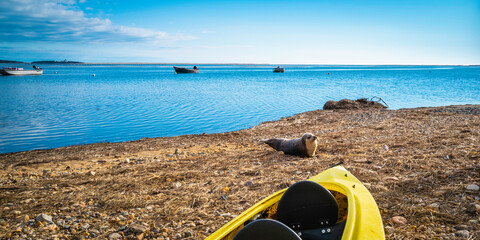
[[[334,236],[338,234],[332,234],[334,231],[340,231],[341,238],[343,233],[341,225],[334,228],[338,218],[337,201],[330,191],[313,181],[290,186],[278,203],[277,216],[302,239],[310,239],[302,236],[304,233],[321,235],[317,239],[336,239]]]

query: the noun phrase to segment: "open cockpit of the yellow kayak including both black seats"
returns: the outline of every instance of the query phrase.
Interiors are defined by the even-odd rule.
[[[300,239],[295,236],[303,240],[341,239],[347,205],[347,197],[340,192],[329,191],[316,182],[300,181],[290,186],[279,201],[245,221],[223,239],[260,240],[265,239],[267,232],[272,232],[267,235],[274,238],[277,234],[273,232],[282,232],[285,240]]]

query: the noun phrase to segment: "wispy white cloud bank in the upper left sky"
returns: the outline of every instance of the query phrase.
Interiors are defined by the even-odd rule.
[[[82,1],[80,1],[82,2]],[[119,26],[86,17],[73,0],[4,0],[0,4],[0,41],[151,42],[192,40],[151,29]]]

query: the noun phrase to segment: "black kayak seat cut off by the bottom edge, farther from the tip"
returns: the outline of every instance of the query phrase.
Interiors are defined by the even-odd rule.
[[[233,240],[301,240],[301,238],[279,221],[259,219],[243,227]]]

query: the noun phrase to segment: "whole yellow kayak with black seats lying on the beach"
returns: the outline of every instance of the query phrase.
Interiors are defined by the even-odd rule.
[[[385,239],[370,192],[342,166],[261,200],[206,240]]]

